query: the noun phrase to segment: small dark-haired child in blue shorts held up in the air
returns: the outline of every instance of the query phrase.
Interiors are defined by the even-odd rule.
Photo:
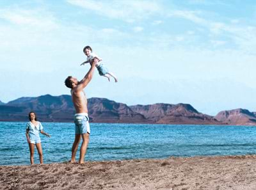
[[[92,48],[90,46],[86,46],[83,49],[84,54],[87,56],[87,61],[84,61],[81,65],[84,65],[85,63],[93,63],[93,59],[99,59],[99,61],[102,61],[101,58],[99,58],[99,56],[97,56],[96,54],[94,54],[92,52]],[[115,82],[117,82],[117,78],[115,77],[115,75],[112,72],[108,71],[108,68],[106,68],[103,63],[97,63],[96,65],[97,70],[99,71],[100,76],[104,76],[108,78],[108,81],[110,81],[110,76],[113,77],[115,79]]]

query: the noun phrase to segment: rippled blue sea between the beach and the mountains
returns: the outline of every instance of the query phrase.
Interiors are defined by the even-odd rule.
[[[44,162],[70,159],[73,123],[42,123]],[[256,154],[256,127],[91,123],[87,161]],[[79,150],[77,151],[77,157]],[[35,150],[35,163],[39,163]],[[30,164],[26,122],[0,122],[0,165]]]

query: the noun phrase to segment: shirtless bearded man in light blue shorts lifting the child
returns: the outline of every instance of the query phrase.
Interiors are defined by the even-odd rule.
[[[98,61],[98,59],[94,59],[90,70],[80,82],[72,76],[68,76],[65,80],[65,85],[68,88],[71,88],[72,102],[76,109],[76,115],[74,116],[74,122],[76,124],[76,136],[72,146],[71,163],[76,162],[76,152],[81,137],[83,139],[83,143],[80,150],[79,164],[84,163],[84,155],[86,154],[86,149],[89,143],[90,125],[87,109],[87,99],[83,89],[92,80],[95,64],[97,64]]]

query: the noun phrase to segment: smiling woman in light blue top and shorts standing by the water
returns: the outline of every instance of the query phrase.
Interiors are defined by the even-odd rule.
[[[31,111],[28,115],[30,122],[27,123],[26,126],[26,137],[28,140],[29,144],[29,150],[30,150],[30,163],[31,165],[34,164],[34,150],[35,150],[35,145],[37,152],[39,154],[40,158],[40,164],[43,164],[43,151],[42,151],[42,146],[41,146],[41,139],[39,136],[39,132],[42,134],[50,137],[49,134],[45,133],[43,131],[43,126],[40,122],[36,120],[36,114],[35,112]]]

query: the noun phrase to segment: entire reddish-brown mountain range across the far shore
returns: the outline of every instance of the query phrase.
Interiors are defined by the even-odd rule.
[[[0,101],[0,121],[28,121],[29,111],[35,111],[42,122],[72,122],[75,114],[70,95],[21,97],[6,104]],[[256,125],[256,112],[241,108],[210,116],[199,113],[190,104],[127,106],[113,100],[91,98],[88,111],[90,122],[95,123]]]

